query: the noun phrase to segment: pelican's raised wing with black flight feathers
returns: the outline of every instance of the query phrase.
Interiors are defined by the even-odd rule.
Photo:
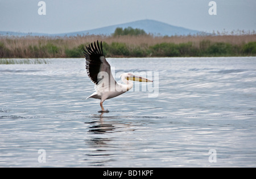
[[[85,68],[87,70],[87,74],[94,84],[98,85],[102,80],[108,80],[107,82],[109,85],[110,82],[116,83],[112,76],[110,65],[103,54],[102,41],[101,44],[99,44],[97,40],[97,44],[94,42],[94,45],[92,43],[88,45],[88,47],[86,46],[86,50],[84,49],[84,56],[86,59]],[[106,78],[105,75],[102,78],[101,75],[98,75],[100,72],[106,72],[106,74],[108,74],[108,78]]]

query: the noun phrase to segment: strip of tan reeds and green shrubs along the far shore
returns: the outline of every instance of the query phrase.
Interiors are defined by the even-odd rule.
[[[255,56],[256,35],[219,36],[0,36],[1,58],[83,57],[82,48],[102,40],[107,57]]]

